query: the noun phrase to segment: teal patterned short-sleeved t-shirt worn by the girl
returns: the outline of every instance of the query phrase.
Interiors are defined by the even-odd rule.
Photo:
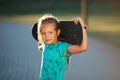
[[[72,56],[64,56],[69,43],[59,41],[56,44],[45,44],[42,54],[40,80],[64,80],[64,72],[67,67],[67,59]]]

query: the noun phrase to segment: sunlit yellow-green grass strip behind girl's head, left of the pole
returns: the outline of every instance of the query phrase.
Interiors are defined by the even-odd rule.
[[[31,15],[18,15],[18,16],[0,16],[0,21],[9,21],[9,22],[17,22],[17,23],[25,23],[25,24],[33,24],[38,21],[38,19],[43,14],[31,14]],[[54,14],[53,14],[54,15]],[[69,15],[54,15],[59,20],[72,20],[73,17],[79,14],[69,14]]]

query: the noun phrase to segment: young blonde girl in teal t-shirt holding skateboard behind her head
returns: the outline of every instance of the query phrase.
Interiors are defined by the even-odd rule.
[[[40,80],[64,80],[67,62],[72,54],[87,50],[86,26],[80,17],[73,21],[82,25],[83,40],[81,45],[71,45],[58,40],[60,29],[58,19],[52,15],[43,15],[38,21],[39,48],[42,48]]]

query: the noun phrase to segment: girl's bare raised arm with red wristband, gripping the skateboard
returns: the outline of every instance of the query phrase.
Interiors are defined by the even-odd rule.
[[[76,53],[81,53],[81,52],[84,52],[84,51],[87,50],[88,39],[87,39],[87,32],[86,32],[85,24],[82,21],[82,19],[80,17],[76,17],[73,20],[76,24],[78,22],[80,22],[81,26],[82,26],[82,30],[83,30],[83,40],[82,40],[81,45],[71,45],[71,46],[68,47],[68,53],[76,54]]]

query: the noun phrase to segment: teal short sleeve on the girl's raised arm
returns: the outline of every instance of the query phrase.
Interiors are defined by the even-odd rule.
[[[62,42],[61,45],[60,45],[60,51],[61,51],[61,54],[62,56],[64,56],[64,54],[67,52],[68,50],[68,47],[70,46],[71,44],[69,43],[66,43],[66,42]],[[67,58],[71,57],[72,54],[71,53],[68,53],[68,55],[66,56]]]

